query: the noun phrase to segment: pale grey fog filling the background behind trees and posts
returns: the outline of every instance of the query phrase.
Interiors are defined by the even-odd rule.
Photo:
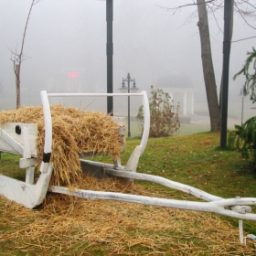
[[[122,79],[130,72],[136,86],[150,95],[150,86],[170,70],[187,75],[195,88],[195,112],[208,112],[203,79],[197,17],[188,19],[196,7],[172,7],[189,0],[114,0],[113,1],[113,91],[119,92]],[[31,0],[0,1],[0,110],[16,107],[16,84],[11,51],[19,53]],[[217,16],[223,28],[223,14]],[[219,89],[222,70],[223,34],[213,17],[209,28],[216,82]],[[255,36],[255,30],[234,16],[233,41]],[[255,37],[232,43],[229,66],[229,112],[240,117],[240,88],[244,78],[232,80],[246,59],[246,52],[255,47]],[[40,104],[39,91],[106,92],[106,3],[97,0],[41,0],[34,5],[21,66],[21,104]],[[78,73],[70,78],[69,73]],[[106,101],[94,99],[63,100],[88,109]],[[98,103],[97,103],[98,102]],[[135,114],[141,102],[132,101]],[[244,112],[253,114],[249,97]],[[114,99],[114,112],[123,114],[127,101]]]

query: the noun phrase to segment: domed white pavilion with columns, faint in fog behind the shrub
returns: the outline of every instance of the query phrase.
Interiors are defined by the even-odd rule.
[[[156,82],[156,88],[168,92],[172,100],[178,101],[184,115],[194,114],[194,92],[192,81],[177,70],[166,72]]]

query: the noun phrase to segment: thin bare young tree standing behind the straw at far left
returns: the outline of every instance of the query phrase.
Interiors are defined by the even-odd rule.
[[[25,57],[23,54],[23,49],[24,49],[24,45],[25,45],[27,24],[28,24],[29,17],[30,17],[33,6],[36,5],[39,1],[40,0],[32,0],[32,3],[30,5],[29,12],[27,15],[27,22],[26,22],[26,26],[24,29],[23,37],[22,37],[20,52],[18,53],[17,49],[15,51],[11,50],[11,54],[12,54],[11,60],[14,63],[14,72],[16,75],[16,109],[20,107],[20,68],[21,68],[21,63],[23,62],[23,60],[25,60]]]

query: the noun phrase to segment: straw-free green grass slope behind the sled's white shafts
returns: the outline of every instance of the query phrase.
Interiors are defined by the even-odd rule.
[[[122,156],[124,164],[140,140],[130,138],[126,142]],[[219,133],[194,133],[149,139],[137,172],[165,176],[219,197],[256,197],[256,176],[251,161],[241,158],[237,151],[221,150],[219,143]],[[97,160],[99,159],[111,163],[108,156],[98,157]],[[160,187],[143,181],[135,183],[155,189]],[[177,197],[181,195],[187,199],[197,200],[196,197],[176,191]],[[235,226],[238,225],[237,219],[229,221]],[[256,222],[244,221],[244,229],[256,234]]]

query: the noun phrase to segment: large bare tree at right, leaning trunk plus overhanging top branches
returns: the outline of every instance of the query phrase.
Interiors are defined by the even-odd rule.
[[[218,27],[217,13],[222,11],[224,8],[224,0],[197,0],[197,2],[192,1],[191,4],[179,5],[175,8],[166,8],[171,10],[176,14],[177,11],[184,7],[195,5],[197,10],[187,17],[187,21],[191,18],[198,17],[197,26],[199,29],[200,43],[201,43],[201,58],[202,66],[205,80],[205,87],[208,99],[208,111],[210,117],[210,129],[212,132],[220,130],[220,106],[219,102],[221,93],[218,99],[218,90],[216,86],[215,72],[212,63],[212,53],[210,46],[209,28],[208,28],[208,15],[214,17]],[[251,25],[251,20],[256,19],[256,1],[255,0],[233,0],[233,12],[242,17],[242,19],[253,29]],[[232,26],[232,21],[231,21]],[[221,28],[219,27],[219,30]],[[232,30],[232,29],[231,29]],[[230,38],[231,40],[231,38]],[[222,81],[221,85],[222,87]],[[221,91],[221,90],[220,90]]]

